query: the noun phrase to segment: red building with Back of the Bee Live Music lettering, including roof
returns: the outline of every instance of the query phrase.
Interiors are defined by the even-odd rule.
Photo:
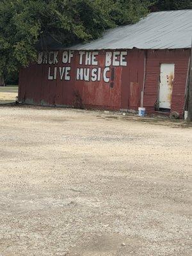
[[[192,10],[150,13],[99,40],[40,52],[20,70],[19,101],[44,106],[177,112],[183,117]]]

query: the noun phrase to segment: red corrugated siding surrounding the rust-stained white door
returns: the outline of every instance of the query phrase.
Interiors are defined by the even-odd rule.
[[[144,107],[148,113],[157,113],[154,109],[158,97],[161,63],[175,64],[175,79],[173,83],[171,111],[177,111],[180,116],[184,108],[184,92],[188,73],[189,50],[148,50],[146,65],[146,80],[144,91]]]

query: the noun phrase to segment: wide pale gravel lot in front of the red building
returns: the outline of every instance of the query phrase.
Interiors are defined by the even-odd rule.
[[[1,256],[189,256],[192,129],[0,108]]]

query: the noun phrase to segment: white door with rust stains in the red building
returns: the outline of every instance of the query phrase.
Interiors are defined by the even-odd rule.
[[[171,109],[175,64],[161,64],[159,109]]]

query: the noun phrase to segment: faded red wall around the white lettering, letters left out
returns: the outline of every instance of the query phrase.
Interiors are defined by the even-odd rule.
[[[61,63],[61,54],[59,52],[59,62],[54,67],[67,67],[68,64]],[[113,52],[113,51],[111,51]],[[110,82],[100,81],[77,81],[76,68],[80,68],[78,51],[74,52],[74,57],[70,63],[71,79],[63,81],[57,77],[56,81],[48,80],[49,64],[33,63],[28,68],[20,70],[20,90],[19,100],[31,104],[51,105],[51,106],[79,106],[81,104],[87,108],[106,108],[120,109],[121,88],[122,88],[122,70],[127,67],[111,67],[108,72]],[[99,51],[97,60],[101,71],[105,67],[106,51]],[[81,68],[93,68],[92,65],[81,65]],[[97,66],[96,66],[97,68]],[[112,79],[111,70],[114,68],[114,79]],[[111,86],[113,82],[113,87]]]

